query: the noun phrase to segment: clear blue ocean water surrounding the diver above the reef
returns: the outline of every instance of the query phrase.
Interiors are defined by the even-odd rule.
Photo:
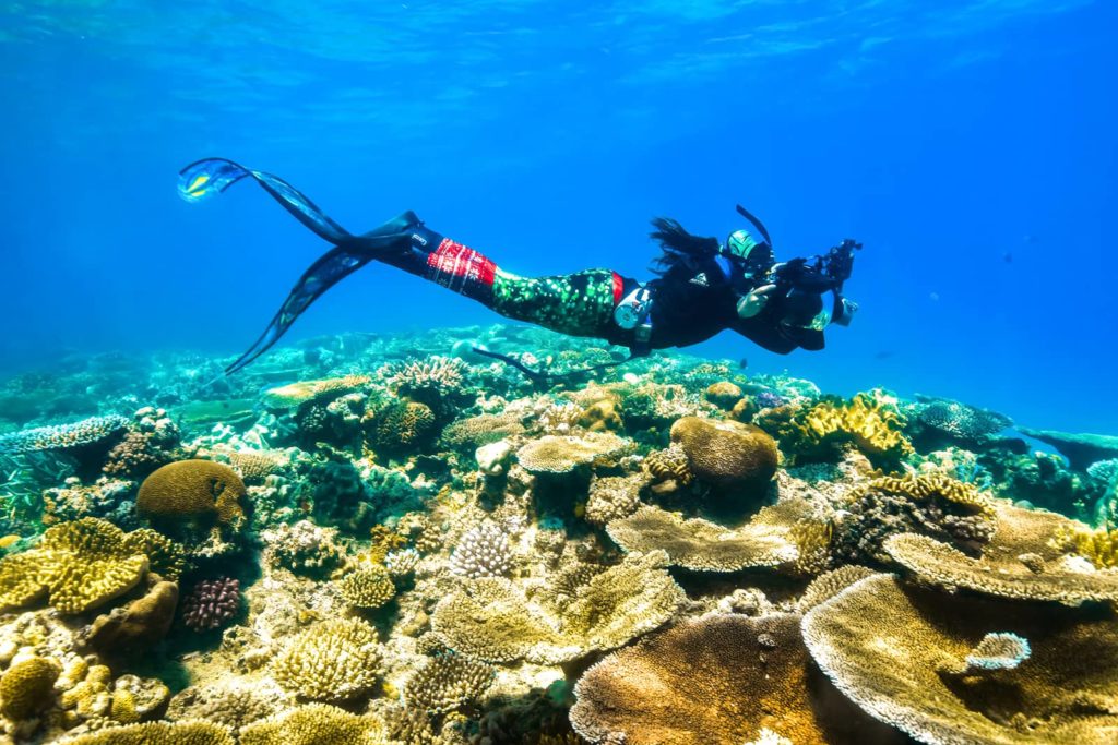
[[[700,351],[1115,432],[1115,28],[1089,0],[6,3],[0,372],[256,338],[325,246],[254,189],[181,201],[222,155],[520,274],[647,276],[651,217],[721,237],[735,202],[781,257],[854,237],[824,352]],[[495,319],[370,266],[286,341]]]

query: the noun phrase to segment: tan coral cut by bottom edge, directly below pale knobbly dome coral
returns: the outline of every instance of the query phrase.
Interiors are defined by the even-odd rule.
[[[389,745],[385,723],[328,704],[309,704],[240,730],[240,745]]]

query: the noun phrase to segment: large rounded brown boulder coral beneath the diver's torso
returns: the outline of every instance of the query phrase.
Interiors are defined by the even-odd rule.
[[[750,424],[684,417],[672,424],[671,437],[695,476],[709,484],[764,488],[776,474],[776,441]]]

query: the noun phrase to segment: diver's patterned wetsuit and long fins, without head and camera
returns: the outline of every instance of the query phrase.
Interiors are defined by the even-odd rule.
[[[233,161],[207,159],[188,165],[180,172],[179,191],[184,199],[196,201],[218,194],[246,176],[252,176],[333,248],[303,274],[264,334],[228,372],[244,367],[267,351],[311,303],[371,260],[429,279],[508,318],[572,336],[604,338],[629,347],[636,355],[651,348],[695,344],[727,328],[774,352],[823,346],[822,332],[788,329],[777,322],[779,302],[767,304],[752,318],[740,318],[736,303],[752,286],[742,286],[747,280],[741,267],[722,255],[674,266],[646,285],[609,269],[519,277],[501,270],[477,251],[429,230],[413,212],[354,236],[278,176],[248,170]],[[647,289],[648,302],[642,306],[639,325],[622,327],[615,321],[618,304],[642,288]]]

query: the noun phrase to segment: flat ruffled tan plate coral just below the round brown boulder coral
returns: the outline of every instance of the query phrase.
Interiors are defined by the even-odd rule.
[[[730,529],[650,505],[613,520],[606,532],[625,551],[664,551],[673,565],[700,572],[776,566],[797,557],[787,529],[765,524]]]

